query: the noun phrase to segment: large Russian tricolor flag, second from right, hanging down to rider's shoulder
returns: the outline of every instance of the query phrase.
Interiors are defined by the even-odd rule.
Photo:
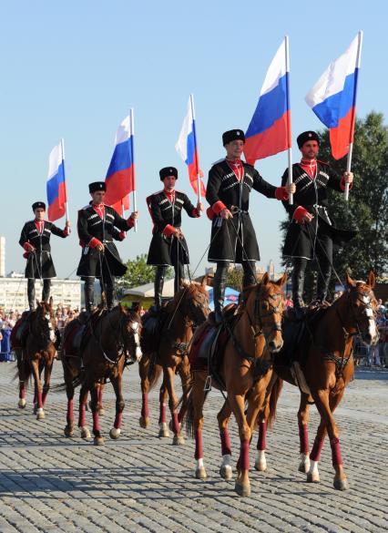
[[[291,148],[291,109],[286,38],[273,57],[259,102],[245,134],[244,154],[251,165]]]

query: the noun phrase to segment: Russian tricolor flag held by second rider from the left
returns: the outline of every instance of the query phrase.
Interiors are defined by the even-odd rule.
[[[107,169],[105,202],[108,205],[116,208],[124,203],[129,207],[128,194],[135,190],[134,173],[133,128],[128,115],[117,128],[115,150]]]

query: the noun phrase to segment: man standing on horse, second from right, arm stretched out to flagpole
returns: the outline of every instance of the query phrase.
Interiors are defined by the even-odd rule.
[[[212,218],[208,260],[217,263],[214,276],[214,310],[217,322],[225,299],[230,261],[240,262],[244,271],[244,288],[256,283],[255,262],[260,260],[256,233],[250,220],[250,191],[257,190],[267,198],[287,200],[294,186],[274,187],[248,163],[242,161],[245,135],[231,129],[222,135],[226,158],[209,170],[206,200]]]

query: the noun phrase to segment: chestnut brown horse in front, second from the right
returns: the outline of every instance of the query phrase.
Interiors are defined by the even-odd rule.
[[[244,291],[244,302],[240,302],[234,323],[230,326],[230,336],[225,345],[220,370],[213,376],[213,385],[227,391],[228,400],[218,416],[222,446],[222,477],[231,477],[230,466],[230,438],[228,434],[228,420],[232,412],[239,425],[240,458],[238,462],[238,477],[235,490],[240,496],[250,495],[250,438],[256,421],[260,405],[251,395],[247,414],[245,414],[246,395],[252,389],[256,372],[265,373],[265,368],[271,366],[271,354],[281,350],[281,315],[283,313],[283,292],[281,287],[287,281],[284,274],[278,282],[271,282],[267,273],[260,283],[248,287]],[[204,326],[203,326],[204,327]],[[201,334],[199,328],[197,335]],[[267,361],[262,361],[263,358]],[[260,368],[260,364],[262,367]],[[264,369],[264,370],[262,370]],[[216,379],[215,379],[216,378]],[[206,384],[208,372],[193,373],[193,384],[189,395],[188,432],[195,436],[197,459],[196,477],[207,477],[203,464],[202,425],[203,404],[206,399]]]

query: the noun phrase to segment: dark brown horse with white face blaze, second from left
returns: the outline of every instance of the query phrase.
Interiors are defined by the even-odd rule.
[[[62,350],[62,365],[67,395],[67,414],[65,436],[73,436],[74,414],[73,398],[75,388],[79,392],[78,427],[82,438],[89,438],[86,422],[87,394],[90,392],[90,407],[93,415],[93,435],[96,446],[104,443],[99,427],[98,389],[99,384],[108,378],[116,395],[115,423],[109,432],[112,439],[121,433],[122,414],[125,406],[122,394],[122,374],[128,359],[132,362],[141,359],[140,334],[141,321],[137,312],[118,304],[111,311],[97,312],[87,319],[86,331],[78,350],[67,343],[72,337],[73,328],[81,323],[72,321],[66,325]],[[77,353],[76,353],[77,352]]]

